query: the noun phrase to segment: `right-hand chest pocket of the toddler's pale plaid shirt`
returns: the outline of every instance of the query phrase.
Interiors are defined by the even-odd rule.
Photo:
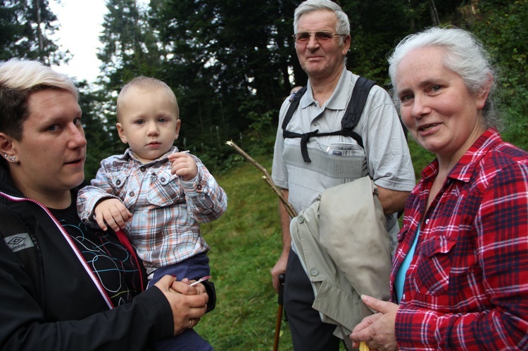
[[[146,200],[158,207],[183,203],[185,194],[177,176],[170,173],[151,174]]]

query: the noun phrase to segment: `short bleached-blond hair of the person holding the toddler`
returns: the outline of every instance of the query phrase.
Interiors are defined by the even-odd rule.
[[[20,141],[22,125],[29,117],[27,98],[34,91],[64,89],[78,101],[77,87],[62,73],[36,60],[0,62],[0,132]]]

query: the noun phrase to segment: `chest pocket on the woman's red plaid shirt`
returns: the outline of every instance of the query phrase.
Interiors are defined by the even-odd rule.
[[[455,243],[453,238],[436,236],[417,246],[418,256],[412,279],[417,293],[439,296],[448,291]]]

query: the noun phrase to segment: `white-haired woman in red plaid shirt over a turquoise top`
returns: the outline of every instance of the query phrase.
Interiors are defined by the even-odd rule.
[[[377,350],[527,350],[528,153],[501,139],[496,73],[465,30],[410,35],[389,58],[394,101],[436,154],[410,194],[391,302],[354,328]]]

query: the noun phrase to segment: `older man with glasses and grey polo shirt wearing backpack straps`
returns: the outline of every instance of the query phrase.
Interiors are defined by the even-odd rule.
[[[295,49],[308,75],[306,93],[300,99],[287,129],[310,133],[309,162],[301,157],[301,138],[283,136],[282,121],[291,99],[282,104],[275,141],[272,179],[296,212],[308,208],[322,191],[367,175],[375,182],[386,215],[386,229],[396,243],[397,212],[403,210],[415,176],[401,123],[389,94],[372,87],[358,125],[353,129],[363,147],[349,136],[325,135],[341,129],[341,119],[351,98],[357,75],[346,70],[351,36],[348,17],[329,0],[308,0],[294,14]],[[339,151],[339,152],[337,152]],[[272,269],[273,285],[286,274],[284,308],[294,350],[339,350],[333,324],[321,321],[312,308],[314,293],[296,253],[291,251],[290,218],[279,203],[282,222],[282,255]],[[354,253],[350,253],[353,255]],[[387,282],[387,288],[388,288]]]

